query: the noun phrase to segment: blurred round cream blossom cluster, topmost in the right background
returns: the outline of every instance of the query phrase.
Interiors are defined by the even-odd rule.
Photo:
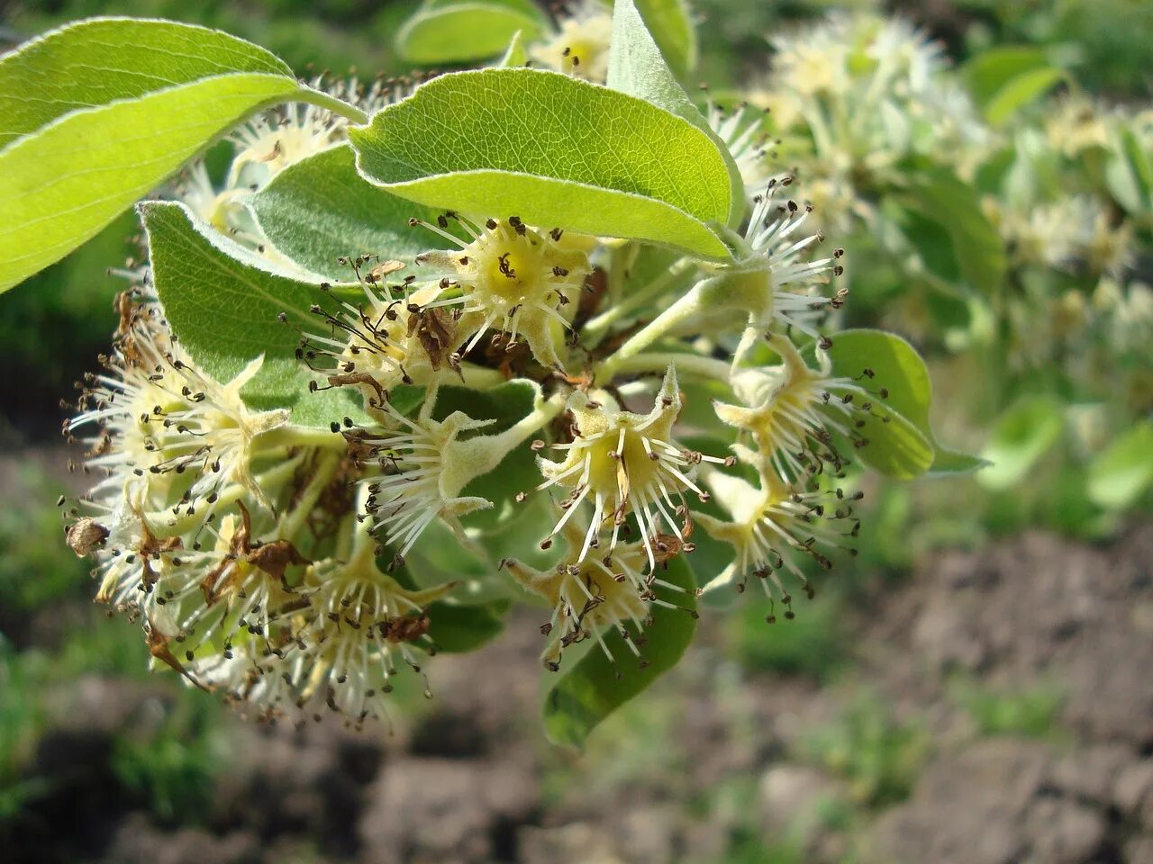
[[[872,194],[899,179],[900,160],[937,152],[971,160],[985,145],[940,46],[899,18],[834,15],[773,45],[773,69],[749,98],[769,109],[775,152],[796,166],[830,229],[874,221]]]

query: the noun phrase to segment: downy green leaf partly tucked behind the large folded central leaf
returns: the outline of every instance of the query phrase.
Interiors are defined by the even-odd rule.
[[[437,212],[367,182],[348,145],[285,168],[246,203],[277,251],[330,281],[352,276],[341,256],[408,260],[437,245],[435,234],[408,225],[436,222]]]

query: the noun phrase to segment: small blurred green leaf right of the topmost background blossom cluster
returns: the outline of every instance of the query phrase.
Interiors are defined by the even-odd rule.
[[[1064,78],[1064,71],[1049,63],[1043,50],[1013,45],[978,54],[964,66],[962,75],[994,126],[1004,124]]]

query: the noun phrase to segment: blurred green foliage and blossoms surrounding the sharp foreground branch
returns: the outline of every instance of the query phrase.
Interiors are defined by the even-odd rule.
[[[937,389],[935,427],[948,444],[994,463],[975,476],[913,485],[866,480],[860,554],[834,577],[819,578],[817,598],[797,620],[767,627],[768,609],[746,598],[714,634],[708,651],[722,672],[702,685],[710,698],[731,700],[739,729],[743,681],[852,684],[851,631],[860,609],[934,551],[975,550],[1031,528],[1099,541],[1148,516],[1153,3],[691,6],[702,22],[693,79],[708,81],[722,104],[745,98],[771,108],[763,120],[774,142],[769,164],[798,175],[801,194],[824,213],[830,240],[847,250],[846,324],[880,325],[910,339]],[[306,77],[353,69],[391,76],[409,71],[394,35],[414,8],[372,0],[16,2],[2,8],[0,48],[86,15],[144,15],[249,38]],[[842,23],[824,23],[829,13]],[[912,51],[922,36],[941,48],[922,70],[928,83],[920,90],[910,89],[906,73],[882,78],[865,60],[871,39],[892,35],[884,29],[888,15],[910,25],[897,31],[899,50]],[[834,55],[844,58],[845,77],[822,85]],[[77,486],[59,470],[67,461],[54,438],[67,414],[59,402],[107,342],[112,298],[123,287],[107,271],[138,258],[135,234],[126,214],[0,300],[7,361],[0,844],[43,818],[37,802],[77,782],[43,770],[43,738],[59,721],[61,692],[92,676],[144,675],[138,630],[103,621],[91,607],[85,567],[61,543],[54,508],[59,494]],[[161,824],[196,824],[228,753],[224,711],[172,677],[151,680],[155,710],[115,738],[101,782]],[[932,749],[926,718],[898,717],[867,688],[850,689],[839,719],[814,727],[790,755],[843,781],[814,816],[842,831],[907,796]],[[427,711],[417,690],[398,699],[401,714]],[[1047,683],[1005,692],[958,680],[949,694],[978,736],[1049,738],[1062,704],[1060,688]],[[605,723],[591,761],[550,761],[545,803],[565,801],[576,780],[640,782],[654,761],[666,776],[688,770],[689,757],[671,737],[680,698],[673,684],[661,684]],[[749,821],[740,808],[749,783],[718,783],[693,802],[689,818],[729,826],[723,861],[805,861],[796,836],[786,832],[770,842]]]

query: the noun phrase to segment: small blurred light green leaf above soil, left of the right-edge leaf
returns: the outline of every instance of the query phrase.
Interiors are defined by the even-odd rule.
[[[981,454],[989,467],[978,478],[990,490],[1007,490],[1019,483],[1061,438],[1061,403],[1052,396],[1027,396],[997,419]]]

